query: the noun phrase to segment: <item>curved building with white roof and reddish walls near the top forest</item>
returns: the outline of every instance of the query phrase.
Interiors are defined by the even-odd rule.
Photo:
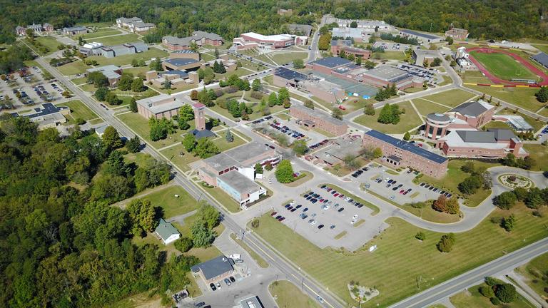
[[[256,34],[255,32],[241,34],[240,37],[233,39],[233,44],[238,50],[251,48],[270,50],[286,48],[293,45],[306,45],[307,42],[308,36],[296,36],[293,34],[265,36],[263,34]]]

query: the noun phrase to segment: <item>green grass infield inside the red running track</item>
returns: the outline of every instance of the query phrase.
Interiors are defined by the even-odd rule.
[[[539,79],[539,76],[529,71],[521,63],[517,62],[511,56],[504,53],[482,53],[470,51],[477,61],[487,68],[487,70],[498,78],[511,80],[512,78]]]

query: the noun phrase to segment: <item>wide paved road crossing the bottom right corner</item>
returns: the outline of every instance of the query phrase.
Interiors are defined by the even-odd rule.
[[[415,294],[412,297],[393,304],[390,308],[422,308],[428,307],[430,304],[434,304],[445,297],[450,297],[453,294],[462,292],[467,287],[471,287],[475,284],[480,284],[484,277],[494,276],[500,272],[512,270],[516,267],[524,265],[529,260],[542,255],[544,252],[548,252],[548,238],[539,240],[533,244],[523,247],[520,250],[499,257],[497,260],[493,260],[485,265],[475,268],[470,272],[461,274],[453,279],[447,280],[442,284],[438,284],[435,287],[427,289],[424,292]]]

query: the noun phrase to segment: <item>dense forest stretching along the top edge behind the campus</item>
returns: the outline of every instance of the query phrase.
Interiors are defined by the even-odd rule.
[[[157,35],[212,31],[225,39],[245,31],[277,34],[285,24],[312,24],[321,14],[345,19],[383,19],[395,26],[442,32],[451,24],[486,39],[548,39],[546,0],[0,0],[0,43],[14,39],[18,24],[49,22],[56,28],[139,16],[158,24]],[[293,9],[280,16],[278,9]]]

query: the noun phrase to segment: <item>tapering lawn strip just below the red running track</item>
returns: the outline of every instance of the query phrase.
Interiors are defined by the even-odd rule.
[[[480,91],[494,98],[502,99],[507,103],[514,104],[519,108],[528,111],[537,112],[543,103],[537,101],[534,93],[539,91],[537,88],[501,88],[501,87],[486,87],[486,86],[466,86],[476,91]]]

